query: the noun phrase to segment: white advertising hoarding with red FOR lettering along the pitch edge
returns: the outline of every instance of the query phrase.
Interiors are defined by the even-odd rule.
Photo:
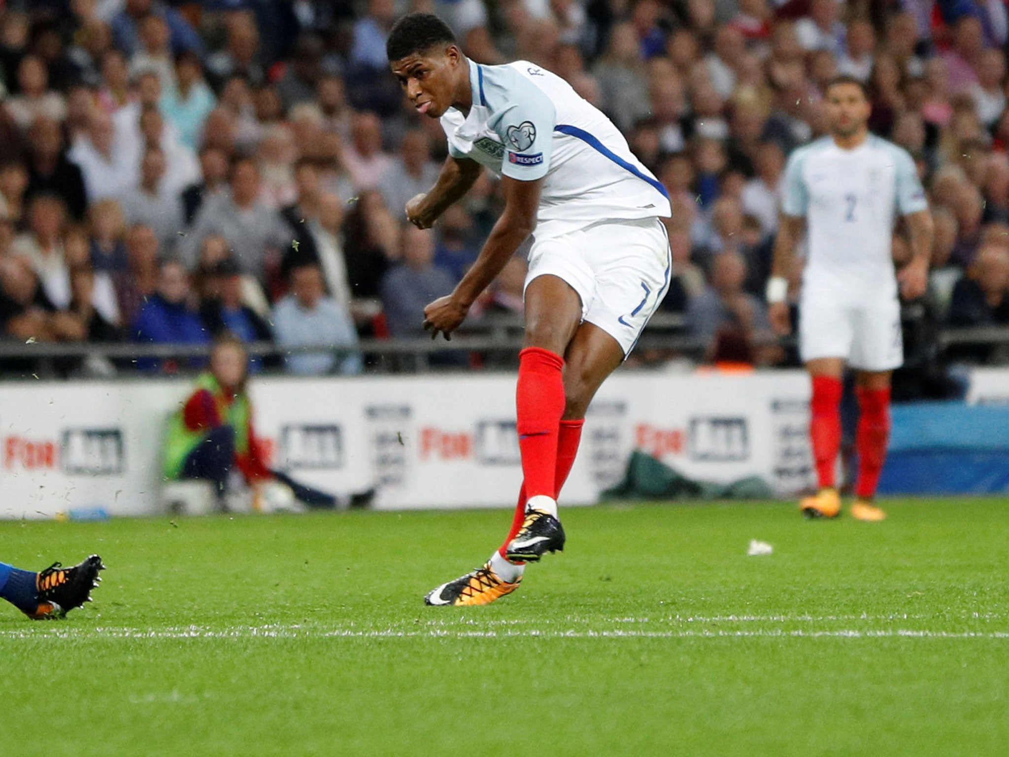
[[[511,507],[521,483],[515,376],[253,379],[270,464],[379,509]],[[0,389],[0,517],[157,512],[165,419],[188,380],[18,382]],[[634,449],[714,481],[809,482],[801,371],[612,376],[589,410],[565,504],[621,479]]]

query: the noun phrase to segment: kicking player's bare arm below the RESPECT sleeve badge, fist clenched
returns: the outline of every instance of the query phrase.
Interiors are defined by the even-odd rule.
[[[504,210],[490,230],[483,249],[452,294],[438,298],[424,309],[424,328],[431,332],[432,339],[439,333],[448,339],[459,328],[476,298],[533,233],[542,185],[542,179],[523,182],[501,178]]]

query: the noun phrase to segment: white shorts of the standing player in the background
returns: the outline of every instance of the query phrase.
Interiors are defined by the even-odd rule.
[[[853,368],[893,370],[904,362],[900,302],[840,303],[820,296],[799,303],[799,353],[803,362],[842,357]]]

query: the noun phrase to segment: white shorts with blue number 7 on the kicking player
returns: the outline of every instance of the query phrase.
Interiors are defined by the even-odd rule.
[[[556,276],[581,298],[581,318],[631,354],[669,289],[672,256],[656,217],[607,219],[545,239],[533,237],[526,287]]]

